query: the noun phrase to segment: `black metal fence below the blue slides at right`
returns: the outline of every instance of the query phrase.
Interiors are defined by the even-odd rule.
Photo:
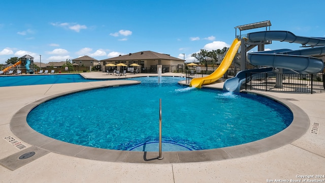
[[[245,89],[277,92],[323,93],[325,74],[246,73]]]

